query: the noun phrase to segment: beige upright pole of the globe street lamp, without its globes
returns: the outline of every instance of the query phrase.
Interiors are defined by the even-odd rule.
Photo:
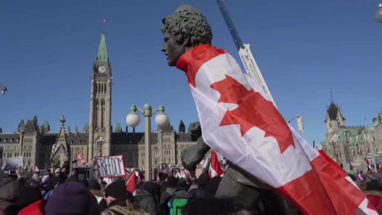
[[[145,141],[145,181],[151,181],[151,106],[144,105],[144,141]]]

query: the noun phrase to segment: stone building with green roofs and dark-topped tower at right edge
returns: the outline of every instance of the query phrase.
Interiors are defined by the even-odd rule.
[[[322,149],[337,163],[353,163],[354,168],[359,168],[365,158],[371,161],[370,142],[375,157],[382,158],[382,111],[372,119],[369,128],[366,125],[346,126],[342,109],[332,100],[324,123],[326,134],[325,141],[321,142]]]

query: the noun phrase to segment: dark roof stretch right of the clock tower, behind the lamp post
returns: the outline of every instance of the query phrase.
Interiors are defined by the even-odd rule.
[[[144,133],[112,133],[112,144],[144,144]],[[151,133],[151,144],[158,144],[158,133]]]

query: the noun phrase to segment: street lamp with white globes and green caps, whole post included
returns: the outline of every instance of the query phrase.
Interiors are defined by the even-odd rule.
[[[144,141],[145,141],[145,180],[151,181],[151,116],[159,111],[157,116],[155,116],[155,123],[160,127],[164,126],[168,122],[168,116],[164,112],[165,108],[163,105],[160,105],[159,108],[151,110],[151,105],[145,104],[144,110],[141,108],[137,108],[135,105],[131,105],[131,112],[126,116],[126,123],[128,126],[136,127],[141,122],[141,118],[139,118],[138,112],[142,113],[145,118],[145,126],[144,126]]]

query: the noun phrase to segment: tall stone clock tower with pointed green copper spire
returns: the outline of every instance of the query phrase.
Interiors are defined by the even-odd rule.
[[[94,157],[110,155],[111,115],[112,115],[112,67],[107,57],[105,33],[101,33],[98,54],[93,63],[88,162]]]

